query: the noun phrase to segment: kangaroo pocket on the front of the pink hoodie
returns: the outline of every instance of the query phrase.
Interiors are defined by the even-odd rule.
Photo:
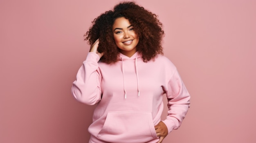
[[[111,143],[145,143],[157,134],[150,112],[108,112],[97,137]]]

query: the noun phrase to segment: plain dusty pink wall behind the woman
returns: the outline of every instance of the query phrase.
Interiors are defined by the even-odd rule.
[[[256,1],[137,2],[159,15],[165,55],[191,93],[164,143],[255,143]],[[83,34],[117,3],[0,1],[0,143],[88,142],[95,106],[70,88],[89,50]]]

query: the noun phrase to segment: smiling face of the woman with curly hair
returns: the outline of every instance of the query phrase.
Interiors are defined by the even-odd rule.
[[[133,26],[126,18],[117,18],[112,28],[114,40],[120,52],[131,57],[136,51],[139,37],[135,33]]]

